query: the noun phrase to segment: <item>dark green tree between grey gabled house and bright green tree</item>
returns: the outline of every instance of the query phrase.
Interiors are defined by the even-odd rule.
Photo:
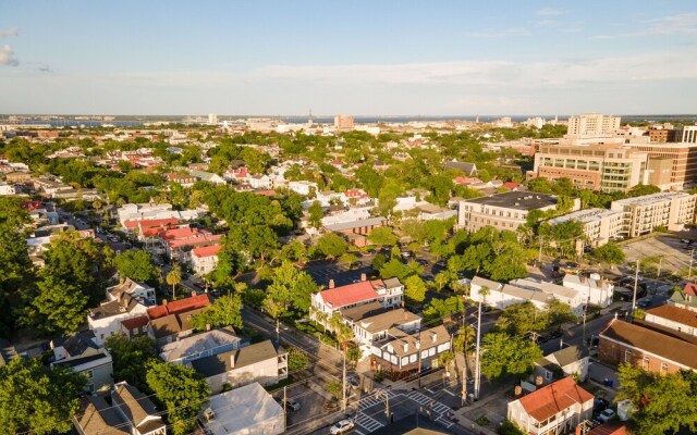
[[[114,382],[125,381],[140,391],[148,391],[145,369],[157,358],[155,340],[148,336],[129,338],[114,334],[107,337],[105,347],[113,359]]]

